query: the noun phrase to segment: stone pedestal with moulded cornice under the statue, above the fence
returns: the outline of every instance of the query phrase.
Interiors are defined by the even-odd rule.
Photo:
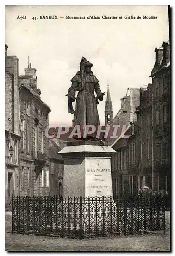
[[[59,152],[64,158],[63,197],[110,197],[113,148],[100,141],[75,141]]]

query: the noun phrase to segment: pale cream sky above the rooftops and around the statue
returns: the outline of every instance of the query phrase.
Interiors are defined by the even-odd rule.
[[[18,15],[25,15],[26,19],[17,19]],[[56,15],[58,19],[40,19],[43,15]],[[85,16],[85,19],[66,19],[68,15]],[[88,19],[89,15],[100,19]],[[102,19],[103,15],[118,18]],[[141,19],[137,19],[138,15]],[[143,15],[157,16],[157,19],[143,19]],[[168,8],[6,6],[5,37],[8,55],[19,59],[19,74],[24,74],[28,56],[31,67],[37,69],[41,99],[51,108],[50,125],[71,125],[73,116],[68,114],[65,95],[71,86],[70,80],[79,71],[82,56],[93,63],[92,71],[100,81],[101,91],[107,94],[107,84],[110,85],[115,116],[128,87],[140,88],[151,83],[154,50],[169,40]],[[105,100],[106,95],[98,105],[102,125]]]

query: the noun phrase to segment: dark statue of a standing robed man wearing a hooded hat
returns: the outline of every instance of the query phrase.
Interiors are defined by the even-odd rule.
[[[80,125],[81,132],[88,124],[98,127],[100,124],[97,104],[103,100],[105,93],[102,93],[99,81],[91,71],[93,66],[86,58],[82,57],[80,62],[80,71],[71,79],[72,85],[68,89],[68,113],[75,113],[75,125]],[[77,98],[75,92],[78,91]],[[97,97],[94,95],[94,91]],[[75,111],[72,102],[76,99]]]

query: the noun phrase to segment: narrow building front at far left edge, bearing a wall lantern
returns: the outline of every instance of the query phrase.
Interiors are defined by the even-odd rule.
[[[5,202],[19,194],[18,58],[7,56],[5,45]],[[12,155],[10,148],[13,148]]]

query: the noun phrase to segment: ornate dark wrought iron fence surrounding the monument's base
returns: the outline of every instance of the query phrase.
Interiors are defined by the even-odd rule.
[[[112,197],[12,197],[12,232],[61,237],[165,232],[165,206]]]

